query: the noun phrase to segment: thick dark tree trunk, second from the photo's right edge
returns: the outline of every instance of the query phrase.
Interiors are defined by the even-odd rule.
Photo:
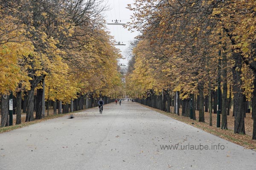
[[[234,133],[245,134],[244,129],[244,113],[242,111],[242,102],[243,102],[243,93],[242,93],[242,82],[241,82],[241,67],[242,67],[242,59],[240,54],[233,53],[233,59],[235,61],[235,65],[232,69],[233,73],[233,93],[234,93],[234,109],[233,113],[235,116],[235,128]]]

